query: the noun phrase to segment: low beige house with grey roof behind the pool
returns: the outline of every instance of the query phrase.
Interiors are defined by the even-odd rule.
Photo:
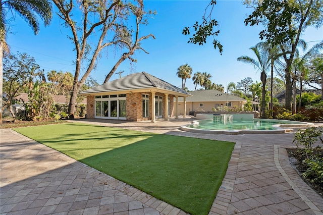
[[[228,108],[237,106],[237,108],[243,108],[247,102],[246,99],[238,96],[230,95],[219,90],[196,90],[190,92],[192,96],[186,99],[186,113],[195,111],[211,112],[212,108],[221,110],[224,106]],[[178,99],[179,102],[179,114],[184,113],[184,100]],[[193,115],[193,114],[192,114]]]

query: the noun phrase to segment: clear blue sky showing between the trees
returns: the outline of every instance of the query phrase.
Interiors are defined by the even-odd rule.
[[[145,71],[176,86],[182,81],[177,77],[177,68],[183,64],[192,67],[193,73],[207,72],[212,75],[213,83],[226,86],[229,82],[237,83],[246,77],[260,82],[260,73],[252,66],[238,62],[237,58],[247,55],[254,58],[250,47],[260,41],[258,33],[262,26],[245,26],[244,19],[252,10],[242,5],[241,1],[217,1],[212,16],[219,22],[217,29],[220,34],[217,39],[223,45],[222,56],[219,50],[214,50],[212,41],[200,46],[187,43],[189,36],[182,34],[184,27],[192,26],[201,21],[205,7],[209,1],[144,1],[146,10],[153,10],[157,15],[149,19],[147,26],[141,26],[140,35],[153,34],[156,39],[149,38],[142,41],[142,47],[149,54],[136,52],[133,58],[137,63],[124,61],[117,72],[125,71],[122,76],[134,72]],[[53,6],[56,10],[56,6]],[[70,33],[63,27],[63,21],[56,15],[48,27],[41,24],[40,32],[34,35],[30,27],[18,16],[11,22],[12,34],[8,35],[8,43],[12,52],[27,52],[34,57],[45,72],[57,70],[74,74],[73,61],[76,53],[74,44],[67,38]],[[323,28],[308,28],[301,37],[309,42],[309,46],[323,39]],[[103,83],[107,73],[118,61],[120,51],[107,48],[97,62],[97,67],[91,76],[99,83]],[[119,78],[114,74],[112,79]],[[186,86],[194,90],[192,80],[187,80]],[[197,87],[199,88],[199,86]]]

